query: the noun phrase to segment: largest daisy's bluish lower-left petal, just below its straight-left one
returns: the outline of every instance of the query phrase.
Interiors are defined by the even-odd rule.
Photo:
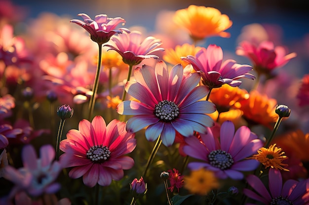
[[[157,123],[158,121],[159,119],[154,115],[133,116],[128,119],[126,123],[126,130],[131,133],[137,132],[148,125]]]

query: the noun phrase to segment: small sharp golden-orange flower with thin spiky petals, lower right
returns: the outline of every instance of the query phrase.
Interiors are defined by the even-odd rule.
[[[282,166],[288,166],[287,164],[283,164],[282,161],[287,159],[287,156],[283,155],[284,152],[282,149],[276,147],[276,144],[271,145],[269,148],[262,147],[258,150],[258,154],[253,155],[250,159],[256,159],[261,162],[265,168],[271,167],[276,170],[284,170]]]

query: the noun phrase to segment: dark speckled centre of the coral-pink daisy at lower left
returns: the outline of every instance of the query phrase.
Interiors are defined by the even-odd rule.
[[[86,153],[86,156],[92,162],[102,163],[110,158],[111,151],[107,146],[95,145],[90,147]]]

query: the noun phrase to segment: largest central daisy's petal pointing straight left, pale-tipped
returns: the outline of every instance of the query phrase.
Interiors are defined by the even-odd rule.
[[[120,115],[151,115],[154,113],[154,108],[140,102],[127,100],[119,103],[116,111]]]

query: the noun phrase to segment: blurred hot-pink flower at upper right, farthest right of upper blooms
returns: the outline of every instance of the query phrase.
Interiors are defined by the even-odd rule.
[[[273,69],[296,57],[296,53],[286,55],[284,47],[274,47],[271,41],[263,41],[258,45],[242,41],[236,49],[236,54],[249,58],[259,74],[270,74]]]

